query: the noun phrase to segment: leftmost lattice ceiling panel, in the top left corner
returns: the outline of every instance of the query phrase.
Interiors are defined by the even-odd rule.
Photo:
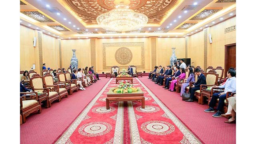
[[[29,16],[30,18],[33,18],[34,20],[37,20],[38,22],[54,22],[53,20],[38,11],[21,11],[21,13]]]

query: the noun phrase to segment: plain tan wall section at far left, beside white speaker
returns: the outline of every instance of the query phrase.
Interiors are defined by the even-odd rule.
[[[34,30],[20,26],[20,70],[30,70],[35,64],[35,50],[33,47]],[[37,68],[37,66],[36,66]]]

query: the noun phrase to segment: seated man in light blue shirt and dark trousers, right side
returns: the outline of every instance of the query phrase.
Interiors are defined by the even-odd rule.
[[[215,118],[221,117],[223,106],[224,106],[224,100],[226,99],[226,93],[227,92],[236,92],[236,71],[235,70],[228,70],[227,72],[228,79],[225,82],[225,84],[221,86],[213,86],[213,88],[224,88],[224,92],[220,93],[214,93],[212,95],[212,99],[209,103],[209,107],[207,110],[204,110],[204,112],[214,112],[214,106],[217,102],[217,99],[219,99],[217,113],[212,115]]]

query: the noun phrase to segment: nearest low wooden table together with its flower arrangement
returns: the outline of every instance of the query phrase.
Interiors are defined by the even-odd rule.
[[[116,88],[112,88],[107,93],[106,109],[109,110],[109,104],[120,101],[138,101],[145,108],[144,92],[140,88],[135,88],[128,82],[120,82]]]

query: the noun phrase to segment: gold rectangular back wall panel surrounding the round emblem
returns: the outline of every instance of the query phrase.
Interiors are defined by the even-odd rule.
[[[132,54],[139,54],[139,51],[141,52],[140,55],[133,56],[133,59],[128,65],[135,65],[137,69],[144,69],[145,68],[145,58],[144,58],[144,42],[120,42],[120,43],[103,43],[102,48],[103,48],[103,69],[110,69],[115,63],[111,63],[113,61],[116,62],[115,60],[115,52],[118,50],[118,48],[121,47],[127,47],[132,51]],[[138,49],[140,48],[140,49]],[[111,52],[112,51],[112,52]],[[110,53],[113,53],[113,56],[110,56]],[[111,58],[113,60],[111,60]],[[141,58],[141,60],[138,60]],[[109,60],[108,60],[109,59]],[[107,63],[110,62],[110,65],[107,65]],[[116,62],[117,65],[118,62]],[[128,67],[123,65],[124,67]]]

